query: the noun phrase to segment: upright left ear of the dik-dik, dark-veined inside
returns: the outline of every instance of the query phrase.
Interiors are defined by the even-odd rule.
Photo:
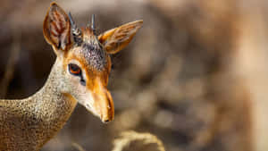
[[[50,4],[43,24],[44,37],[57,55],[71,46],[71,24],[68,15],[56,3]]]

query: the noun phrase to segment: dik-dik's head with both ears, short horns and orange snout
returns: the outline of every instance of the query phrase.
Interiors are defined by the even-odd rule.
[[[67,15],[52,3],[46,13],[43,32],[57,55],[57,74],[61,80],[57,87],[103,122],[112,121],[113,98],[107,90],[110,55],[127,46],[141,25],[142,21],[134,21],[96,36],[94,19],[91,26],[80,29],[71,13]]]

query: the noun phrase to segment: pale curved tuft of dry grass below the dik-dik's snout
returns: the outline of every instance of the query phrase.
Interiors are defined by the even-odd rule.
[[[121,133],[121,138],[116,138],[113,141],[112,151],[122,151],[124,147],[130,145],[133,141],[142,141],[144,145],[156,144],[159,151],[165,151],[162,141],[151,133],[138,133],[136,131],[124,131]]]

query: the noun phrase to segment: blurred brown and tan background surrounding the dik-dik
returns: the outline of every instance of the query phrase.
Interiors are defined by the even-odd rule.
[[[52,1],[0,2],[0,96],[27,97],[44,85],[55,60],[42,33]],[[112,150],[124,130],[155,134],[167,151],[268,149],[268,1],[56,2],[80,26],[95,13],[99,34],[140,19],[144,26],[112,56],[114,121],[103,124],[78,105],[42,151],[77,150],[72,142]]]

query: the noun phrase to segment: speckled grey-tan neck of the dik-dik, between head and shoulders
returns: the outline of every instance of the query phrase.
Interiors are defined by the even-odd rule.
[[[57,59],[45,86],[27,99],[29,104],[33,104],[34,113],[39,118],[60,127],[68,120],[77,104],[72,96],[63,92],[62,74],[63,67]]]

